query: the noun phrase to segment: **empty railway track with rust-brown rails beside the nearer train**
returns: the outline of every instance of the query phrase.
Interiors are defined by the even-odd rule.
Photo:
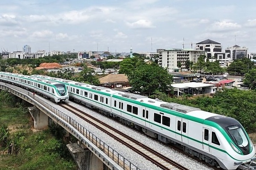
[[[176,167],[180,170],[188,170],[186,167],[178,164],[177,162],[163,156],[162,154],[158,153],[157,151],[152,150],[151,148],[147,147],[144,144],[141,144],[137,140],[127,136],[126,134],[116,130],[115,128],[111,127],[110,125],[105,124],[104,122],[90,116],[89,114],[80,111],[78,108],[73,107],[67,103],[61,103],[61,107],[65,108],[66,110],[76,114],[81,119],[84,119],[86,122],[94,125],[95,127],[99,128],[103,132],[107,133],[109,136],[113,137],[120,143],[124,144],[125,146],[131,148],[136,153],[140,154],[141,156],[145,157],[152,163],[156,164],[158,167],[162,168],[163,170],[171,170],[172,168]]]

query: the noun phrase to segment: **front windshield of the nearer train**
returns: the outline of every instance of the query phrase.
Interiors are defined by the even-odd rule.
[[[227,131],[237,146],[246,147],[249,144],[244,130],[239,125],[228,126]]]

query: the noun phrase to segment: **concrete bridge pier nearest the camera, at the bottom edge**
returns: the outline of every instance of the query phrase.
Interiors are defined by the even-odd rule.
[[[89,149],[79,146],[78,143],[67,144],[73,159],[79,170],[107,170],[108,167],[97,158]]]

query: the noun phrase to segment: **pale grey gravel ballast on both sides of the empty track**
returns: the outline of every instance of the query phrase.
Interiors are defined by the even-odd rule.
[[[38,96],[38,95],[37,95]],[[131,161],[135,166],[140,168],[140,170],[161,170],[161,168],[154,165],[151,161],[148,161],[143,156],[140,156],[139,154],[135,153],[133,150],[129,149],[123,144],[120,144],[116,140],[114,140],[112,137],[108,136],[105,133],[102,133],[101,130],[97,129],[96,127],[88,124],[81,118],[75,116],[70,111],[65,110],[64,108],[60,107],[59,105],[55,104],[54,102],[50,102],[47,99],[44,99],[41,96],[38,96],[39,98],[43,99],[45,102],[51,104],[55,108],[57,108],[59,111],[62,111],[63,113],[67,114],[77,122],[79,122],[84,128],[89,130],[91,133],[93,133],[95,136],[97,136],[99,139],[102,140],[102,142],[105,142],[108,144],[112,149],[114,149],[116,152],[118,152],[120,155],[124,156],[125,159]],[[125,134],[128,134],[129,136],[133,137],[134,139],[137,139],[141,143],[151,147],[152,150],[156,150],[158,152],[163,153],[166,157],[171,158],[172,160],[182,164],[184,167],[187,167],[189,170],[213,170],[212,168],[207,167],[206,165],[195,161],[188,156],[185,156],[181,153],[179,153],[176,150],[173,150],[160,142],[157,142],[156,140],[148,138],[148,136],[145,136],[141,133],[138,133],[137,131],[132,130],[129,127],[125,127],[124,125],[120,124],[119,122],[113,121],[112,119],[105,117],[99,113],[96,113],[95,111],[90,110],[89,108],[84,107],[83,105],[79,105],[74,102],[66,101],[68,104],[75,106],[76,108],[79,108],[80,110],[90,113],[97,119],[100,119],[101,121],[108,123],[108,125],[111,125],[115,127],[116,129],[122,131]],[[118,143],[118,144],[116,144]],[[178,170],[177,168],[174,168],[173,170]]]

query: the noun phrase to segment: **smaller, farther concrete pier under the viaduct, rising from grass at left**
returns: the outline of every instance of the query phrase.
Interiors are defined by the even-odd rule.
[[[29,113],[34,119],[34,128],[36,130],[45,129],[48,127],[48,116],[38,108],[29,107]]]

